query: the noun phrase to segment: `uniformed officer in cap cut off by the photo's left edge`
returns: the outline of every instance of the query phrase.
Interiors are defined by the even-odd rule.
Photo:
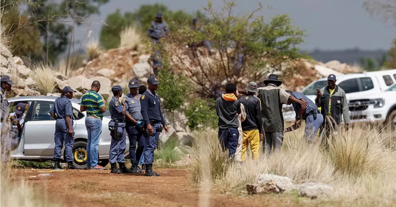
[[[14,85],[14,82],[12,82],[10,76],[5,75],[0,78],[0,152],[3,162],[8,161],[7,152],[11,146],[7,124],[8,113],[10,112],[10,109],[8,108],[8,99],[6,93],[11,90],[12,85]]]

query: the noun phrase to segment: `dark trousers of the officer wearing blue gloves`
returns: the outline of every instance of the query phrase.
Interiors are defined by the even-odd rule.
[[[143,131],[140,127],[131,125],[126,125],[126,129],[129,139],[129,159],[131,160],[131,163],[137,164],[137,162],[140,161],[145,148]]]

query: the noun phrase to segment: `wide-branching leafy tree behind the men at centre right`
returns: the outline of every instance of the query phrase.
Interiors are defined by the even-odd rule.
[[[242,87],[244,82],[261,82],[268,72],[290,70],[288,61],[305,58],[298,45],[305,32],[292,25],[289,15],[276,15],[265,21],[255,15],[262,6],[247,15],[234,15],[234,2],[225,2],[225,8],[216,12],[209,1],[205,11],[209,21],[204,32],[191,30],[185,24],[174,30],[169,41],[169,55],[173,68],[181,71],[194,85],[201,97],[216,98],[227,82]],[[205,47],[180,49],[192,43],[208,40],[215,55],[206,57]],[[164,51],[166,53],[167,51]],[[244,84],[243,84],[244,83]]]

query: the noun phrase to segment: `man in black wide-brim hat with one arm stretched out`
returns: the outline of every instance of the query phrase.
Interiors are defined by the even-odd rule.
[[[294,96],[291,96],[279,86],[282,81],[278,80],[278,75],[270,74],[267,80],[264,80],[265,87],[260,87],[257,97],[261,101],[261,114],[263,116],[264,152],[270,153],[271,149],[280,150],[283,142],[284,121],[282,114],[282,104],[287,104],[290,100],[292,103],[301,104],[307,108],[307,103]]]

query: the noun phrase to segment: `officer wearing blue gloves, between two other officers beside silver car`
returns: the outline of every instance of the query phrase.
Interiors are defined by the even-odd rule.
[[[126,131],[129,139],[129,159],[131,160],[131,171],[132,173],[143,173],[144,171],[139,169],[137,161],[140,160],[143,149],[145,146],[145,139],[143,137],[143,128],[141,127],[143,116],[140,112],[140,97],[138,94],[139,82],[136,79],[132,79],[128,84],[129,93],[124,96],[122,102],[126,106]],[[136,148],[137,144],[137,148]]]

